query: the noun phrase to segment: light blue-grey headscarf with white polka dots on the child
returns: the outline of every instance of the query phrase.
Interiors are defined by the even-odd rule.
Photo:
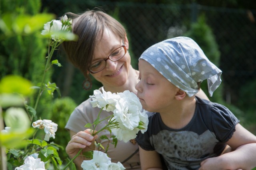
[[[208,92],[221,83],[222,71],[211,63],[198,44],[188,37],[164,40],[149,47],[139,59],[144,59],[189,97],[198,93],[197,82],[207,79]]]

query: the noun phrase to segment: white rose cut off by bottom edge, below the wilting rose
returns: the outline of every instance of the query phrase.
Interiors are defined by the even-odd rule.
[[[46,170],[44,168],[44,162],[41,161],[40,158],[33,158],[32,156],[28,156],[24,160],[24,164],[16,167],[15,170]]]

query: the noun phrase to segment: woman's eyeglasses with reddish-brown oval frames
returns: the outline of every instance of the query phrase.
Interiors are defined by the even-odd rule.
[[[106,67],[106,64],[107,64],[106,61],[108,59],[110,59],[111,61],[118,61],[118,60],[122,59],[127,52],[126,47],[124,45],[124,39],[122,39],[122,43],[123,43],[123,45],[118,47],[117,49],[115,49],[110,54],[110,56],[108,56],[106,59],[102,59],[102,60],[92,63],[91,66],[89,67],[89,71],[91,73],[100,72],[101,70],[103,70]]]

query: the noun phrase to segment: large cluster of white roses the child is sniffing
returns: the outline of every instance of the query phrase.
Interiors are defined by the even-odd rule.
[[[112,129],[118,140],[128,142],[134,139],[136,134],[141,131],[144,133],[148,127],[148,115],[142,109],[139,98],[136,94],[126,90],[122,93],[106,92],[102,88],[94,90],[92,97],[92,107],[103,108],[106,111],[112,111],[114,123],[117,127]],[[113,122],[113,119],[112,122]]]

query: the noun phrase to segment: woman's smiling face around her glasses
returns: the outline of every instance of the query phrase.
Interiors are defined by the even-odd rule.
[[[92,63],[100,59],[106,59],[116,48],[123,45],[122,39],[116,36],[109,29],[105,29],[103,36],[98,40],[94,49]],[[128,50],[128,40],[124,39],[124,45]],[[106,61],[106,67],[92,76],[101,82],[105,88],[120,87],[126,83],[130,71],[130,55],[126,53],[122,59],[118,61]]]

